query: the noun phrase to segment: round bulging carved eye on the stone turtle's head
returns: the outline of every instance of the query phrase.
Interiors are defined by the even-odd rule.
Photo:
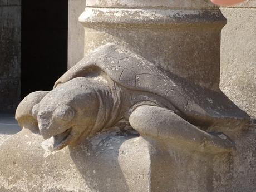
[[[57,107],[54,117],[60,121],[71,121],[75,116],[75,111],[68,105]]]

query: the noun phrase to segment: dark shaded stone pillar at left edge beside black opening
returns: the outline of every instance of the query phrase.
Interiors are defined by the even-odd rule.
[[[20,67],[21,0],[0,0],[0,112],[18,104]]]

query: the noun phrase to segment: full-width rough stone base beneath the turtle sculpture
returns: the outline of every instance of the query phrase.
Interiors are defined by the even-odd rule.
[[[255,128],[238,134],[236,150],[209,155],[163,147],[123,126],[60,151],[24,129],[0,147],[0,191],[255,191]]]

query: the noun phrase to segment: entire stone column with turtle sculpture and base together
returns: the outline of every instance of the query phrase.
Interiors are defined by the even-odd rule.
[[[253,192],[255,126],[219,90],[219,10],[86,3],[86,56],[19,104],[0,190]]]

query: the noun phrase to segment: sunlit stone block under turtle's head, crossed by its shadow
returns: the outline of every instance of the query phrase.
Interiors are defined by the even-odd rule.
[[[1,145],[0,191],[149,191],[149,149],[137,137],[116,127],[76,148],[53,151],[52,139],[24,129]]]

